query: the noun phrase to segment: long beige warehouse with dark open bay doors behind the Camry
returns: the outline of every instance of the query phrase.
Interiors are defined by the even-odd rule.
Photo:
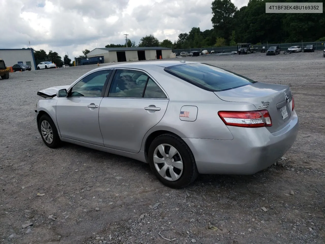
[[[104,63],[173,58],[167,47],[104,47],[95,48],[87,58],[104,57]]]

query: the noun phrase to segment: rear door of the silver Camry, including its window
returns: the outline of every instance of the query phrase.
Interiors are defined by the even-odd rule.
[[[99,106],[104,145],[138,153],[144,135],[162,119],[169,100],[145,71],[115,69],[114,73],[108,95]]]

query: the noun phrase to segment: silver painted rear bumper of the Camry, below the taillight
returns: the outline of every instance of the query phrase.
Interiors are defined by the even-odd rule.
[[[201,174],[250,175],[268,168],[295,142],[299,120],[293,111],[290,122],[274,133],[265,127],[228,128],[233,140],[183,138]]]

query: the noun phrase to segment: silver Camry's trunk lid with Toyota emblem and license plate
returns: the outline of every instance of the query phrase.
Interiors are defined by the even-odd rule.
[[[272,120],[272,126],[266,128],[271,133],[282,129],[291,118],[292,93],[289,86],[256,82],[214,93],[227,102],[248,102],[253,104],[256,110],[266,109]]]

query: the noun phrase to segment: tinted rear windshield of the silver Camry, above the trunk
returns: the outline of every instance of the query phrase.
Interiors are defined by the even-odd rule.
[[[164,70],[171,75],[209,91],[230,90],[257,82],[205,63],[179,64],[166,67]]]

